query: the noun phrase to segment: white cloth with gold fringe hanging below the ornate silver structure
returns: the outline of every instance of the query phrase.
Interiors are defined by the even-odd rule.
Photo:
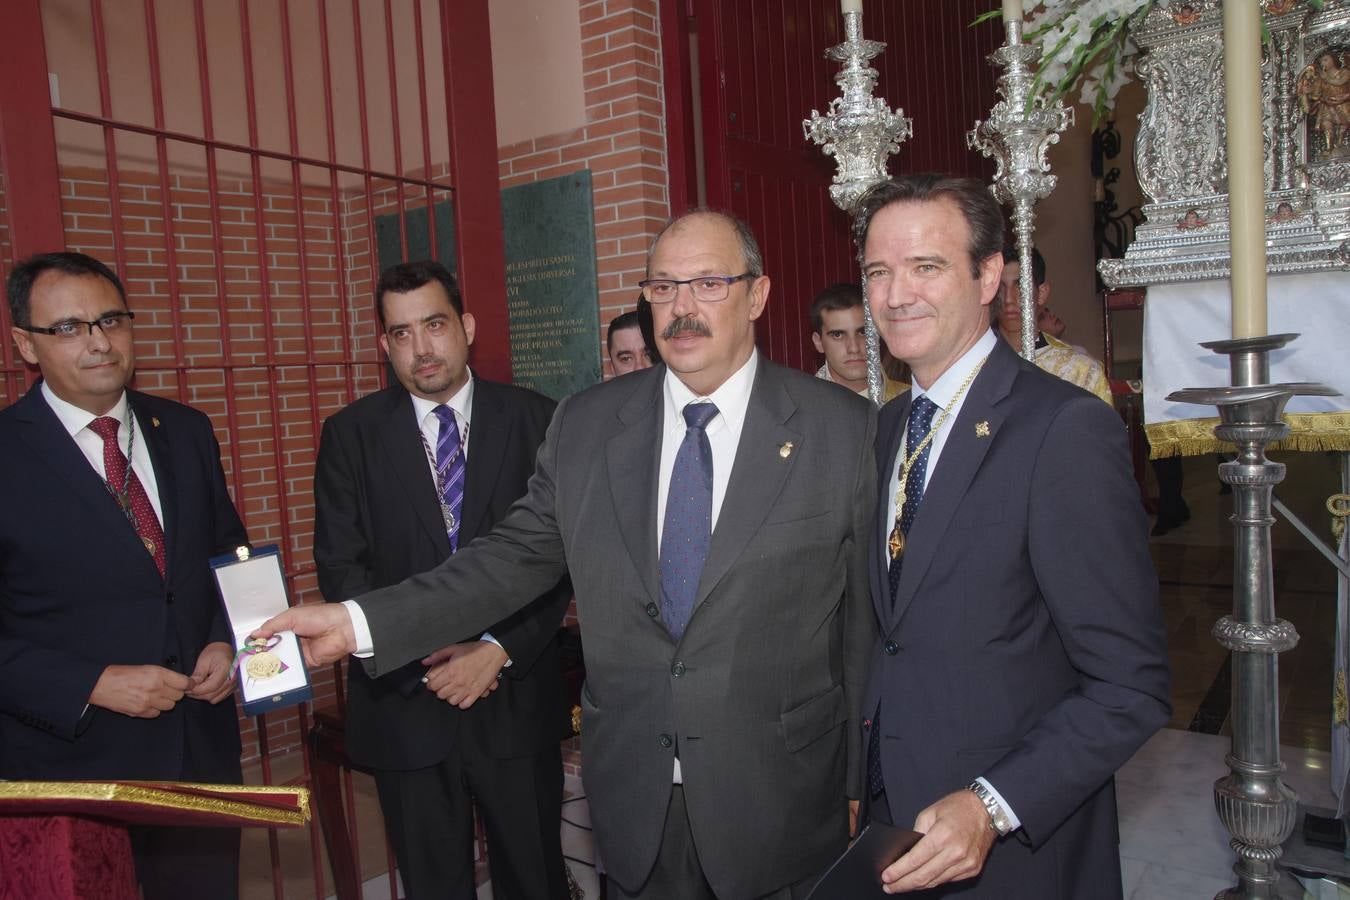
[[[1320,382],[1341,397],[1295,397],[1289,436],[1270,449],[1350,451],[1350,271],[1272,275],[1268,332],[1299,335],[1270,354],[1270,381]],[[1200,341],[1230,336],[1227,281],[1149,287],[1143,304],[1143,421],[1154,459],[1233,449],[1214,436],[1216,410],[1168,399],[1185,387],[1231,385],[1228,358]]]

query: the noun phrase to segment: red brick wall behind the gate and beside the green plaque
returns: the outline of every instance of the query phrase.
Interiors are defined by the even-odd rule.
[[[579,0],[579,13],[586,124],[500,147],[498,158],[502,188],[590,169],[595,339],[603,345],[609,320],[633,308],[647,246],[670,215],[660,43],[656,0]],[[432,170],[437,182],[444,177],[444,166]],[[369,200],[366,190],[347,186],[333,197],[327,184],[297,192],[286,179],[261,178],[255,186],[232,174],[219,178],[212,208],[200,173],[171,170],[165,197],[157,173],[126,167],[115,223],[107,171],[61,169],[68,247],[115,263],[115,224],[122,235],[136,312],[135,386],[211,416],[250,538],[284,545],[292,596],[301,603],[321,600],[312,557],[319,426],[379,386],[370,229],[398,204],[393,184],[373,182]],[[421,189],[404,192],[405,209],[425,205]],[[5,225],[0,173],[0,259],[8,260]],[[0,405],[18,398],[20,382],[0,382]],[[331,704],[332,672],[313,679],[316,704]],[[251,761],[254,721],[242,718],[240,727]],[[271,716],[267,731],[274,756],[298,746],[294,711]],[[574,775],[576,765],[574,748]]]

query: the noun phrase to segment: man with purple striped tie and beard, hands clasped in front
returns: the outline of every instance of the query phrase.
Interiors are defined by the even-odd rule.
[[[386,269],[375,312],[398,383],[324,422],[315,471],[315,563],[332,603],[486,534],[525,493],[554,413],[551,399],[470,371],[474,317],[440,263]],[[447,634],[378,679],[348,669],[347,754],[374,772],[410,897],[477,896],[475,800],[495,896],[567,897],[554,637],[571,591],[559,572],[518,596],[524,610]]]

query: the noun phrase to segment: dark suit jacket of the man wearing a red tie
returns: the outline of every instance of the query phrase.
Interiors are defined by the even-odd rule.
[[[0,412],[0,777],[239,781],[235,704],[155,719],[88,707],[108,665],[190,675],[231,641],[207,564],[246,542],[211,421],[127,391],[163,507],[161,579],[35,385]]]

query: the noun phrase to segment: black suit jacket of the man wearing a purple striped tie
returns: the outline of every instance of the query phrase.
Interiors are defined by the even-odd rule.
[[[459,545],[487,533],[525,493],[554,402],[510,385],[474,379]],[[364,397],[324,422],[315,472],[319,586],[340,602],[450,556],[450,540],[412,398],[402,386]],[[501,687],[459,710],[421,684],[413,661],[373,679],[350,667],[347,753],[378,769],[420,769],[474,741],[494,757],[556,746],[562,695],[555,634],[571,588],[566,579],[487,630],[510,654]],[[447,596],[447,602],[452,598]],[[479,633],[464,633],[473,641]]]

